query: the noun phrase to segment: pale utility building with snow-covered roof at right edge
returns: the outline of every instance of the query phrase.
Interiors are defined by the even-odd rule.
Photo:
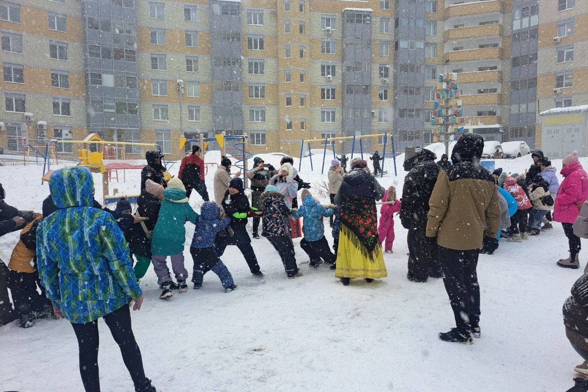
[[[572,151],[588,155],[586,129],[588,105],[553,108],[541,116],[541,149],[550,159],[561,159]]]

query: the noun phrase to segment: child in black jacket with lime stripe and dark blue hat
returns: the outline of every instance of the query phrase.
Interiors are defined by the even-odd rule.
[[[226,190],[222,200],[222,207],[226,216],[230,217],[230,230],[225,230],[222,236],[220,233],[216,236],[216,254],[220,257],[225,253],[227,246],[236,245],[245,257],[250,272],[256,277],[263,277],[246,228],[247,219],[253,211],[249,205],[249,199],[245,195],[242,179],[233,178],[230,180],[229,189]]]

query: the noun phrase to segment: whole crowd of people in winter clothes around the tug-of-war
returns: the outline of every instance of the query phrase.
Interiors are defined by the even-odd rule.
[[[421,283],[442,278],[449,296],[456,327],[439,333],[439,338],[473,343],[472,338],[481,336],[479,253],[495,252],[501,237],[522,242],[537,236],[553,227],[553,220],[562,223],[569,240],[569,257],[557,265],[577,269],[580,237],[588,237],[588,175],[577,152],[563,159],[560,185],[555,167],[540,151],[533,154],[534,164],[526,173],[488,172],[479,164],[483,142],[479,135],[465,134],[450,159],[443,155],[439,162],[430,150],[416,149],[410,167],[405,165],[409,172],[400,199],[395,187],[385,189],[377,181],[381,158],[376,152],[373,173],[362,159],[352,159],[349,172],[347,158],[332,160],[327,205],[312,195],[291,157],[285,156],[278,169],[256,157],[245,173],[249,197],[242,173],[232,176],[232,163],[223,156],[210,201],[197,145],[182,159],[178,177],[166,173],[161,153],[146,153],[134,214],[124,198],[115,210],[99,205],[93,198],[92,175],[82,166],[51,175],[51,195],[44,200],[42,213],[6,205],[0,186],[0,235],[21,230],[10,263],[0,262],[0,324],[19,319],[19,326],[31,327],[41,317],[70,321],[79,343],[84,388],[99,391],[97,320],[103,317],[121,348],[135,390],[155,391],[145,377],[126,305],[141,309],[139,282],[149,265],[162,300],[174,291],[188,291],[190,274],[183,255],[187,222],[195,225],[189,246],[193,289],[201,289],[205,274],[212,270],[224,292],[230,293],[237,286],[222,261],[227,246],[237,247],[253,276],[264,277],[247,229],[249,219],[254,240],[260,239],[261,223],[260,234],[276,250],[288,279],[302,276],[292,240],[302,237],[300,248],[308,254],[309,266],[326,264],[343,286],[349,286],[352,279],[372,283],[387,276],[384,254],[393,252],[394,219],[399,215],[407,229],[407,278]],[[199,213],[189,204],[192,190],[203,200]],[[325,218],[332,244],[325,236]],[[570,342],[588,360],[586,276],[574,284],[564,317]],[[588,376],[588,363],[576,371]]]

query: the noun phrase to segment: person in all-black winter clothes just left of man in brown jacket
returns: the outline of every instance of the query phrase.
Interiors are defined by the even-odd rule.
[[[437,156],[424,148],[415,150],[415,165],[405,177],[400,203],[400,222],[408,230],[408,274],[413,282],[426,282],[430,277],[440,278],[441,266],[437,245],[426,240],[429,198],[441,168],[435,163]]]

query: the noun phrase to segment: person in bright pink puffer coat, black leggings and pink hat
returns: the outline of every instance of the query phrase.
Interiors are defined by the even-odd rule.
[[[578,162],[578,152],[566,155],[562,160],[562,185],[557,190],[553,220],[562,223],[570,245],[570,256],[560,259],[557,265],[564,268],[577,269],[580,266],[580,237],[574,234],[572,224],[580,213],[582,203],[588,198],[588,174]]]

